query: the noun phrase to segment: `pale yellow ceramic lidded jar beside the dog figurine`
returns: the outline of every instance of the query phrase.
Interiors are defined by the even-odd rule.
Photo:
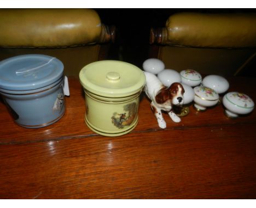
[[[85,123],[103,136],[121,136],[138,123],[139,95],[146,82],[141,69],[117,60],[84,66],[79,73],[85,92]]]

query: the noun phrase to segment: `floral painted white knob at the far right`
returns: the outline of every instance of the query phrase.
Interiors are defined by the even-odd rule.
[[[246,94],[231,92],[223,97],[225,115],[229,118],[237,118],[238,114],[248,114],[253,111],[254,102]]]

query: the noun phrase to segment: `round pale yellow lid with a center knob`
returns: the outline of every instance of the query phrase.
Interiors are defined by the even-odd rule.
[[[118,60],[101,60],[84,66],[79,73],[83,87],[104,97],[126,97],[140,91],[146,77],[137,66]]]

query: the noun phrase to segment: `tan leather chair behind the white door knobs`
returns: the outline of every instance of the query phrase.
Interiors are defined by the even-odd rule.
[[[256,14],[177,13],[150,30],[150,44],[166,69],[239,75],[255,60]]]

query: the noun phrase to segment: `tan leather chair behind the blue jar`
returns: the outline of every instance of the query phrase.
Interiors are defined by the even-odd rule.
[[[0,9],[0,60],[20,54],[60,59],[66,75],[105,59],[115,27],[92,9]]]

